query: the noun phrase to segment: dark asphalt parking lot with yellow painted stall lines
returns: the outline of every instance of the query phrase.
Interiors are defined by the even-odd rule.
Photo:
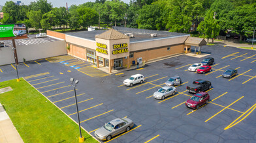
[[[212,45],[202,47],[202,52],[215,59],[212,71],[205,74],[187,71],[191,64],[204,59],[187,55],[152,62],[120,75],[101,72],[89,62],[70,56],[21,63],[18,71],[76,122],[69,79],[78,79],[80,122],[93,136],[96,129],[114,118],[133,120],[135,126],[129,132],[107,142],[255,142],[256,51]],[[229,68],[238,70],[238,75],[224,79],[221,74]],[[123,85],[136,73],[144,75],[144,83]],[[154,99],[153,92],[174,75],[182,78],[176,94]],[[14,64],[0,66],[0,77],[0,81],[16,78]],[[186,86],[197,79],[212,82],[212,88],[207,91],[210,103],[193,110],[185,107],[185,101],[193,96]]]

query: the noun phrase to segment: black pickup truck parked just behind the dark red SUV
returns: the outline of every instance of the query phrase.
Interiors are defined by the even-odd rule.
[[[187,91],[192,93],[198,93],[212,88],[212,83],[210,81],[205,81],[203,79],[197,79],[191,85],[187,86]]]

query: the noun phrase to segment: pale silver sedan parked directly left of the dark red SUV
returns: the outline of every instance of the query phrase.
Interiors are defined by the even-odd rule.
[[[176,88],[174,86],[165,86],[157,90],[157,92],[153,93],[153,98],[155,99],[165,99],[167,96],[172,96],[176,92]]]

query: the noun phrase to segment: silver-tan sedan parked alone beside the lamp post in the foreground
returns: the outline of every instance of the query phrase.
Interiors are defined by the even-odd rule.
[[[113,136],[129,131],[134,123],[129,118],[116,118],[95,131],[94,135],[100,140],[110,140]]]

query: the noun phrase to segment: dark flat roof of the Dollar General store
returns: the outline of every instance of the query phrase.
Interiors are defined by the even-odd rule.
[[[130,38],[130,42],[139,42],[139,41],[145,41],[145,40],[153,40],[153,39],[177,37],[177,36],[189,36],[189,34],[179,33],[179,32],[153,31],[153,30],[146,30],[146,29],[125,28],[125,27],[113,27],[113,29],[116,29],[117,31],[122,32],[123,34],[132,33],[135,37]],[[95,41],[95,35],[101,34],[103,32],[105,31],[97,30],[97,31],[66,32],[65,34]],[[157,37],[150,36],[150,34],[153,34],[153,33],[156,33]]]

